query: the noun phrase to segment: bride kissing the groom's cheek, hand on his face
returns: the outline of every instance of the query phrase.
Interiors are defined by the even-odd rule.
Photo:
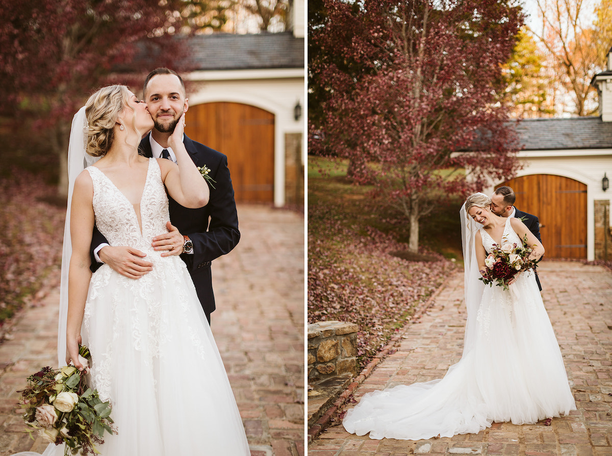
[[[185,263],[151,247],[170,219],[166,191],[185,207],[201,207],[209,198],[206,180],[182,143],[183,123],[168,140],[178,166],[138,155],[138,143],[154,123],[125,86],[91,95],[72,124],[63,259],[64,265],[70,259],[70,267],[67,275],[62,267],[59,361],[82,370],[78,345],[91,351],[92,387],[110,400],[118,430],[98,446],[103,456],[250,454]],[[102,158],[83,171],[92,157]],[[154,263],[151,273],[133,280],[103,265],[91,274],[94,222],[112,243],[146,252]],[[63,445],[50,444],[43,453],[59,455]]]

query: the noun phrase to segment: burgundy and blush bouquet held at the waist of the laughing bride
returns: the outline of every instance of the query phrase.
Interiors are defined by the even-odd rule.
[[[506,239],[506,238],[504,238]],[[480,271],[482,280],[485,285],[493,286],[493,283],[499,287],[504,287],[508,290],[508,282],[520,271],[533,269],[542,258],[537,260],[529,259],[529,255],[533,248],[527,242],[527,235],[523,238],[522,245],[517,243],[504,242],[502,245],[493,244],[493,251],[485,259],[485,270]]]

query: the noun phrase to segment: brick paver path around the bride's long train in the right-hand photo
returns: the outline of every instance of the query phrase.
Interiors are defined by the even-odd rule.
[[[612,455],[612,273],[545,261],[540,280],[577,411],[550,426],[493,424],[477,435],[421,441],[371,440],[335,424],[310,444],[308,456]],[[398,350],[357,389],[356,399],[374,389],[441,378],[461,358],[464,325],[463,274],[457,273],[428,314],[409,326]]]

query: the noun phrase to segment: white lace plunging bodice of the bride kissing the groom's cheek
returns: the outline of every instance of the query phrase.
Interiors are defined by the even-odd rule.
[[[125,245],[151,252],[151,239],[165,233],[168,197],[155,158],[149,158],[146,182],[140,199],[142,233],[133,205],[110,178],[95,166],[86,168],[94,183],[95,224],[110,245]]]

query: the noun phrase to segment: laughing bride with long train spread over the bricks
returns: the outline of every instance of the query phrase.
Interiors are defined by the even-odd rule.
[[[346,412],[350,433],[372,439],[429,439],[478,433],[492,422],[535,423],[576,410],[561,350],[532,271],[522,271],[509,290],[478,280],[494,244],[526,235],[532,258],[542,244],[517,218],[490,210],[485,194],[461,207],[465,302],[468,309],[463,356],[444,378],[400,385],[364,395]]]

